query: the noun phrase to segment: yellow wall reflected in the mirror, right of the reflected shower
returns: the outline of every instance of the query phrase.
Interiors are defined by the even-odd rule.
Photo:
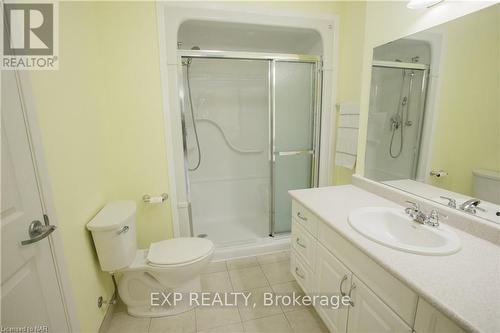
[[[467,195],[472,170],[500,171],[499,18],[496,6],[433,29],[445,37],[431,168],[449,176],[428,181]]]

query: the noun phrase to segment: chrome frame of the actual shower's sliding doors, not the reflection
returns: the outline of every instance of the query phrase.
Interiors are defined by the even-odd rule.
[[[276,233],[274,232],[274,180],[275,180],[275,83],[276,83],[276,62],[296,62],[296,63],[311,63],[313,64],[314,84],[313,90],[313,129],[312,142],[313,148],[307,153],[312,154],[311,161],[311,187],[317,187],[319,181],[319,159],[320,159],[320,139],[321,139],[321,102],[322,102],[322,57],[314,55],[302,54],[286,54],[286,53],[263,53],[263,52],[242,52],[242,51],[219,51],[219,50],[177,50],[177,63],[182,64],[183,58],[201,58],[201,59],[233,59],[233,60],[263,60],[268,62],[268,114],[269,114],[269,167],[270,167],[270,207],[269,210],[269,236],[273,237],[278,234],[288,234],[289,232]],[[194,235],[193,214],[191,209],[191,189],[189,180],[189,166],[187,155],[187,134],[186,134],[186,110],[185,110],[185,89],[184,89],[184,73],[183,66],[178,68],[178,93],[181,111],[181,128],[182,128],[182,148],[184,154],[184,175],[186,183],[186,197],[188,201],[189,229],[191,236]],[[306,153],[302,151],[289,152],[294,154]],[[291,221],[290,221],[291,225]]]

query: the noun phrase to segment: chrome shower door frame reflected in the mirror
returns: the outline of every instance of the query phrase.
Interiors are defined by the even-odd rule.
[[[420,156],[420,151],[421,151],[421,145],[422,145],[422,132],[424,128],[424,122],[426,120],[426,113],[427,113],[427,81],[428,77],[430,75],[430,67],[429,65],[426,64],[420,64],[420,63],[413,63],[413,62],[399,62],[399,61],[384,61],[384,60],[374,60],[372,62],[372,69],[373,67],[377,68],[391,68],[391,69],[413,69],[413,70],[418,70],[422,71],[422,84],[420,85],[420,99],[422,101],[420,105],[421,111],[421,119],[418,124],[418,131],[417,131],[417,147],[414,151],[414,156],[413,156],[413,163],[411,167],[411,175],[414,180],[417,179],[418,175],[418,169],[419,168],[425,168],[425,166],[422,166],[422,156]],[[366,152],[365,152],[366,154]],[[365,157],[366,158],[366,157]]]

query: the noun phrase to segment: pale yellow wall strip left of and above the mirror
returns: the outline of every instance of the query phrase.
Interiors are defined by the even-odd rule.
[[[410,10],[406,1],[374,1],[366,5],[365,40],[361,81],[361,117],[356,173],[363,174],[370,97],[373,48],[389,41],[426,30],[490,6],[492,2],[445,1],[437,6]]]

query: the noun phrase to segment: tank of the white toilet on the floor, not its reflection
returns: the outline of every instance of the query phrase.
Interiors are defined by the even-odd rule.
[[[137,252],[134,201],[113,201],[87,224],[101,269],[115,272],[129,266]]]

